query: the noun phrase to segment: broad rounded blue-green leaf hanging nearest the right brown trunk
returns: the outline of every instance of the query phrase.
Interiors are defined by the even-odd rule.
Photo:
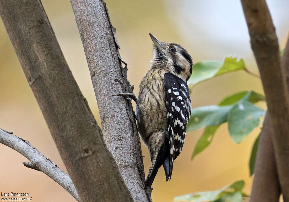
[[[240,143],[259,125],[260,117],[265,111],[250,102],[236,104],[228,113],[228,129],[232,140]]]

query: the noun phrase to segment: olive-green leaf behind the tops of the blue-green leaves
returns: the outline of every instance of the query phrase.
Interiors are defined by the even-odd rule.
[[[249,98],[248,98],[249,102],[256,103],[259,101],[265,101],[265,96],[263,96],[260,93],[256,93],[255,91],[241,91],[241,92],[235,93],[231,96],[227,96],[226,98],[224,98],[219,103],[219,106],[234,104],[234,103],[238,102],[239,100],[241,100],[248,92],[251,92],[249,94]]]

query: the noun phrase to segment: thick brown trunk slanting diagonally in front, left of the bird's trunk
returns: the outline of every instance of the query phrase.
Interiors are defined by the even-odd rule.
[[[132,201],[40,0],[0,0],[0,15],[81,201]]]

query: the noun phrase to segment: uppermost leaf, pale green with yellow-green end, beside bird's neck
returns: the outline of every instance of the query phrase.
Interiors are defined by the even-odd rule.
[[[187,83],[188,85],[196,85],[215,76],[244,69],[246,69],[244,60],[237,61],[236,57],[226,57],[224,62],[216,60],[201,61],[194,64],[192,75]]]

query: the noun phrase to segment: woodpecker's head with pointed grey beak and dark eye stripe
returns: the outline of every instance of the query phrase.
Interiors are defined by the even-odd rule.
[[[193,65],[188,51],[179,44],[160,42],[151,33],[149,35],[154,49],[151,68],[164,68],[187,82],[192,74]]]

